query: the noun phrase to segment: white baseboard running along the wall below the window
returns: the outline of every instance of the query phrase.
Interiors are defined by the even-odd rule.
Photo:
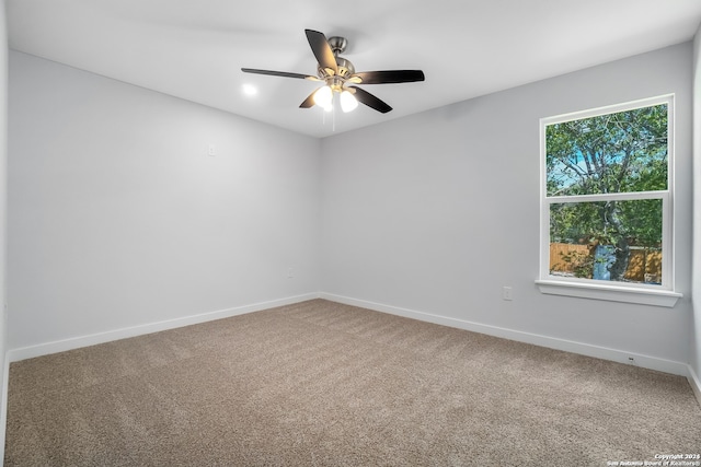
[[[587,357],[594,357],[601,360],[609,360],[613,362],[631,364],[630,359],[632,358],[636,366],[642,366],[650,370],[656,370],[664,373],[676,374],[679,376],[686,376],[687,378],[689,378],[689,375],[690,375],[689,371],[691,370],[691,367],[688,364],[681,363],[681,362],[675,362],[671,360],[658,359],[656,357],[650,357],[650,355],[628,352],[628,351],[618,350],[618,349],[610,349],[606,347],[593,346],[590,343],[576,342],[576,341],[566,340],[566,339],[559,339],[555,337],[524,332],[524,331],[502,328],[497,326],[483,325],[483,324],[468,322],[463,319],[434,315],[429,313],[417,312],[414,310],[401,308],[398,306],[383,305],[380,303],[368,302],[365,300],[356,300],[347,296],[334,295],[332,293],[322,292],[319,294],[319,297],[324,300],[330,300],[332,302],[344,303],[346,305],[360,306],[364,308],[375,310],[377,312],[390,313],[393,315],[404,316],[407,318],[414,318],[414,319],[420,319],[420,320],[434,323],[438,325],[450,326],[459,329],[466,329],[473,332],[486,334],[490,336],[501,337],[504,339],[532,343],[535,346],[547,347],[555,350],[563,350],[566,352],[578,353]],[[697,378],[697,384],[698,384],[698,378]],[[697,397],[699,397],[698,394],[697,394]]]

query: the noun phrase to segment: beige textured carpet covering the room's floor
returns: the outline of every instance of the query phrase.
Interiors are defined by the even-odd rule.
[[[314,300],[12,363],[7,466],[606,466],[701,452],[688,382]]]

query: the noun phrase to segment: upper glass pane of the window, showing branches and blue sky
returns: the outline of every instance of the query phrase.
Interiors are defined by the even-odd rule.
[[[548,196],[667,189],[667,104],[545,126]]]

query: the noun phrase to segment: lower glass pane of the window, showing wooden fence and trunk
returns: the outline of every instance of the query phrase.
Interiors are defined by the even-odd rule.
[[[662,199],[550,205],[550,275],[662,283]]]

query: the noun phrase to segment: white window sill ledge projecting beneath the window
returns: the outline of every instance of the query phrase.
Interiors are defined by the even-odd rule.
[[[641,305],[671,308],[683,295],[668,290],[631,289],[608,284],[537,280],[541,293],[551,295],[578,296],[582,299],[607,300],[610,302],[637,303]]]

